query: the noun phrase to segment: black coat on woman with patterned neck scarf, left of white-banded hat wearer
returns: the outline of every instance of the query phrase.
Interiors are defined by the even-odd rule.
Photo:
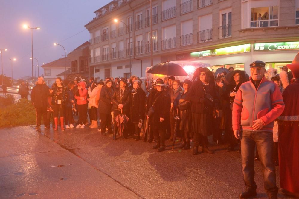
[[[137,92],[133,94],[131,92],[131,108],[130,108],[130,119],[132,122],[139,122],[140,119],[144,119],[144,110],[145,110],[145,92],[142,88],[138,88]]]

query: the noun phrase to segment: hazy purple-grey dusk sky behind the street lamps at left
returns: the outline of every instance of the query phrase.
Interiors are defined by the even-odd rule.
[[[33,30],[33,57],[38,59],[40,66],[43,62],[49,63],[64,57],[63,48],[54,46],[53,43],[64,46],[68,54],[88,41],[90,36],[84,25],[95,17],[95,10],[109,2],[110,0],[0,0],[0,49],[8,49],[3,52],[3,74],[11,77],[9,58],[16,58],[13,62],[13,78],[31,76],[31,29],[24,29],[23,24],[40,27],[39,30]],[[78,32],[81,33],[69,38]],[[33,65],[37,65],[36,60]],[[42,68],[39,68],[39,74],[44,74]]]

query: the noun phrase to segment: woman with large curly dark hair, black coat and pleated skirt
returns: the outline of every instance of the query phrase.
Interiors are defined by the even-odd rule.
[[[202,146],[202,152],[213,153],[208,148],[208,136],[212,134],[213,109],[216,101],[213,73],[207,68],[198,68],[195,74],[199,75],[199,79],[192,83],[187,96],[191,102],[193,155],[198,153],[199,144]]]

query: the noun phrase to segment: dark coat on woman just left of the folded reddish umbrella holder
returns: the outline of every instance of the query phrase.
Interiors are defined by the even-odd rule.
[[[100,102],[98,107],[99,113],[110,114],[111,113],[111,98],[112,98],[112,88],[103,86],[100,94]]]

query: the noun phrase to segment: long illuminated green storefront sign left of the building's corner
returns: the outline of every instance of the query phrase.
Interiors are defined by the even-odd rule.
[[[196,59],[203,57],[213,57],[218,55],[230,55],[243,52],[250,52],[250,43],[239,46],[230,46],[213,50],[205,50],[199,52],[191,52],[186,54],[176,55],[176,60]]]

